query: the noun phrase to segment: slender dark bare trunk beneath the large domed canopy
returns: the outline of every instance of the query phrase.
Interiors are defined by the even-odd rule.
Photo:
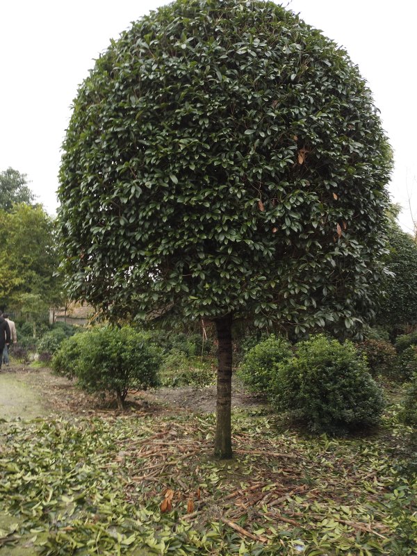
[[[231,452],[231,313],[215,320],[218,336],[217,423],[215,456],[232,457]]]

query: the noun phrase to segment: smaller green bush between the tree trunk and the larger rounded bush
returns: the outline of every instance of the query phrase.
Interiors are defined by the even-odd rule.
[[[239,375],[252,391],[270,393],[277,363],[290,359],[292,355],[291,345],[285,338],[271,335],[247,352]]]

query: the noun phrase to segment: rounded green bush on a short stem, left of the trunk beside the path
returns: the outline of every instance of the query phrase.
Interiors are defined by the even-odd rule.
[[[66,357],[61,372],[74,373],[77,384],[85,391],[111,392],[122,409],[129,389],[147,389],[158,384],[162,354],[149,341],[149,334],[131,327],[103,327],[73,338],[65,342],[73,341],[70,344],[73,361],[67,361],[68,347],[64,345]],[[59,362],[60,350],[54,357],[54,366],[58,368]]]

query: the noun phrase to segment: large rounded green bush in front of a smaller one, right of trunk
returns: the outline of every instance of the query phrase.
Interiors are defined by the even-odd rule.
[[[382,390],[354,345],[321,334],[300,342],[292,359],[277,364],[273,392],[277,411],[306,420],[318,432],[375,425],[384,407]]]

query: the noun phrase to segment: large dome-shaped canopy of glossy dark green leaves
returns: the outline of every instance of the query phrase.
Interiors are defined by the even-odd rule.
[[[74,101],[67,284],[114,315],[353,330],[390,165],[343,49],[271,2],[179,0],[112,41]]]

